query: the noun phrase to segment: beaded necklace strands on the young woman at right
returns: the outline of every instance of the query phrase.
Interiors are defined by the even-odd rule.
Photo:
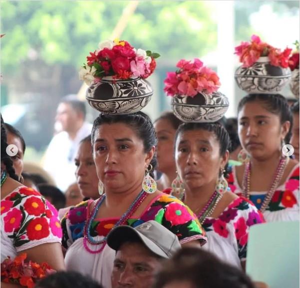
[[[280,159],[279,164],[276,169],[276,173],[272,180],[271,188],[268,191],[268,193],[266,194],[263,204],[261,206],[261,209],[260,209],[261,212],[265,212],[265,210],[269,206],[269,203],[270,203],[277,187],[280,184],[280,181],[283,177],[283,174],[289,163],[289,160],[290,160],[289,157],[284,157],[284,158]],[[251,180],[251,162],[246,164],[246,169],[245,169],[245,174],[243,177],[243,184],[242,184],[244,196],[248,199],[250,199],[250,180]]]

